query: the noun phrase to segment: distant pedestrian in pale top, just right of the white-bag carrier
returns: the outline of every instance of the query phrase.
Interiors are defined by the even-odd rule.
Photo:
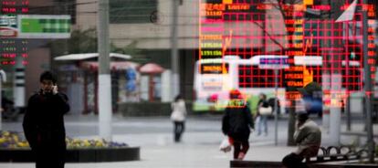
[[[258,95],[258,102],[257,102],[257,136],[264,131],[264,135],[268,135],[268,116],[271,115],[273,109],[269,105],[267,100],[267,95],[264,93],[260,93]]]

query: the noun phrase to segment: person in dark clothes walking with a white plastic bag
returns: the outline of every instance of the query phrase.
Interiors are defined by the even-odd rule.
[[[230,102],[222,121],[222,131],[234,145],[234,159],[243,160],[249,149],[250,130],[254,129],[247,102],[238,90],[230,91]]]

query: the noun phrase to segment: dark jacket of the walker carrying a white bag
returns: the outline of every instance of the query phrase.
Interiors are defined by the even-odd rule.
[[[247,107],[227,107],[222,121],[222,131],[234,141],[246,142],[250,128],[254,128],[252,115]]]

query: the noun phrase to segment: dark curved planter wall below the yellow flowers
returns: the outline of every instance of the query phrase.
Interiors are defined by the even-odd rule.
[[[103,149],[68,149],[67,163],[102,163],[139,161],[141,159],[139,147],[103,148]],[[32,163],[31,150],[0,149],[1,163]]]

